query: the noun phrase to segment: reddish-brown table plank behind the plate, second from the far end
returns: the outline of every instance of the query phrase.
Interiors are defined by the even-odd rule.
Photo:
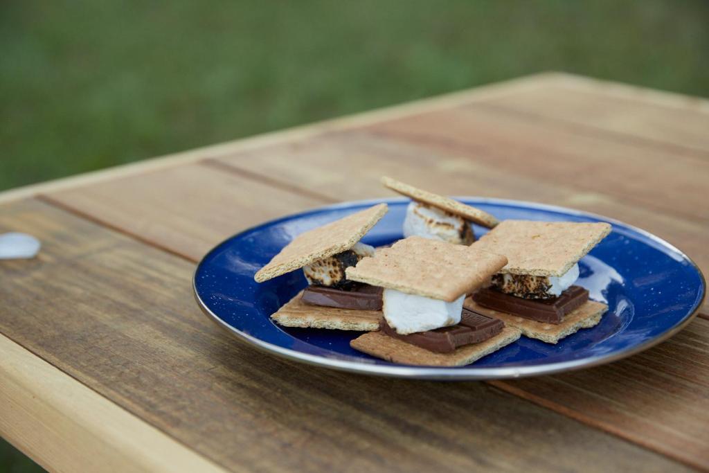
[[[470,105],[368,128],[412,144],[456,150],[541,185],[561,184],[627,204],[709,220],[709,160],[639,148],[497,108]]]

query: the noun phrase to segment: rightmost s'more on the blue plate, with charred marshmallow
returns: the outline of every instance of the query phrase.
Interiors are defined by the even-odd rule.
[[[546,343],[593,327],[608,306],[588,299],[588,291],[574,283],[579,260],[608,233],[608,223],[503,221],[472,247],[505,255],[508,262],[464,306]]]

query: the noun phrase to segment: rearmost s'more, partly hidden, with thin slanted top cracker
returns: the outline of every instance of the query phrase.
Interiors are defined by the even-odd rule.
[[[381,183],[411,198],[403,221],[404,238],[421,236],[458,245],[470,245],[475,241],[471,223],[486,228],[493,228],[498,224],[497,218],[489,213],[450,197],[418,189],[391,177],[382,177]]]

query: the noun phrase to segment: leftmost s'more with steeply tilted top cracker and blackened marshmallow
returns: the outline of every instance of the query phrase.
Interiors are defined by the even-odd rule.
[[[374,255],[374,247],[359,240],[386,211],[386,204],[379,204],[302,233],[259,269],[257,282],[298,269],[308,281],[272,320],[289,327],[379,329],[381,288],[348,281],[345,270]]]

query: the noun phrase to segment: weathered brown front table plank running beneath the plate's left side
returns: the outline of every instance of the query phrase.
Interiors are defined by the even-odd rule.
[[[45,247],[0,267],[2,333],[228,469],[683,469],[486,384],[277,360],[199,313],[181,258],[38,201],[4,206],[9,227]]]

